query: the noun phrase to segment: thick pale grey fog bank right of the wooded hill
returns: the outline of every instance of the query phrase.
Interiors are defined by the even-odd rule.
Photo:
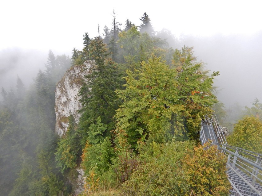
[[[194,46],[195,55],[208,70],[220,71],[214,85],[225,106],[235,102],[251,106],[255,98],[262,100],[262,31],[249,36],[188,37],[185,43]]]

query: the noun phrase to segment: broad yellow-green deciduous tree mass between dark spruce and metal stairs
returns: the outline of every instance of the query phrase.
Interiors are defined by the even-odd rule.
[[[179,73],[155,56],[135,73],[127,71],[126,88],[116,91],[123,104],[115,118],[132,148],[147,138],[160,143],[172,135],[198,140],[200,119],[216,102],[211,88],[218,73],[208,77],[192,60],[187,56]]]

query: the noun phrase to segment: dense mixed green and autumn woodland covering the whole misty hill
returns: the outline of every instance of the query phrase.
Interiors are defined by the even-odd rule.
[[[146,13],[140,20],[121,29],[113,11],[112,24],[94,38],[84,33],[71,57],[50,50],[31,86],[18,76],[11,90],[2,87],[1,195],[74,195],[76,167],[86,175],[83,196],[228,195],[226,160],[200,146],[200,119],[215,112],[233,130],[230,144],[261,153],[262,104],[226,118],[214,94],[219,70],[205,70],[192,46],[169,47]],[[80,122],[71,116],[59,138],[56,84],[85,60],[96,67],[79,91]]]

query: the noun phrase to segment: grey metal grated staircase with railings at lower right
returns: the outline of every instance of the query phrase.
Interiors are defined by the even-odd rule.
[[[262,196],[262,155],[227,144],[216,115],[205,116],[201,121],[202,145],[211,141],[227,156],[227,175],[232,185],[232,196]]]

